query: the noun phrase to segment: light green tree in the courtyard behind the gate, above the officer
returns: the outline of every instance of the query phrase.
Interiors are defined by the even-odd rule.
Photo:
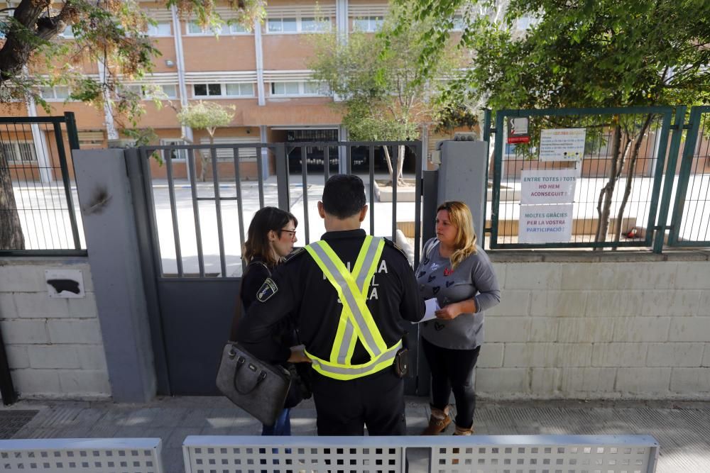
[[[417,57],[422,54],[427,23],[409,18],[398,35],[391,35],[395,9],[383,22],[379,34],[354,32],[347,41],[337,35],[317,35],[315,56],[310,64],[313,77],[327,84],[344,111],[343,125],[353,140],[413,140],[420,127],[432,121],[444,77],[456,73],[457,55],[452,50],[437,53],[437,67],[420,76]],[[393,170],[389,147],[384,147],[391,176],[403,180],[405,147],[398,147]]]

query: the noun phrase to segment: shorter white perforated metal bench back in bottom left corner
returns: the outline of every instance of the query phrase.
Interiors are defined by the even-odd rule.
[[[0,440],[7,473],[163,473],[159,438]]]

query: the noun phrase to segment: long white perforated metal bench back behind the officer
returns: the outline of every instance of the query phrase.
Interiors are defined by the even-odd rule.
[[[648,435],[193,435],[183,444],[186,473],[400,473],[408,449],[430,453],[430,473],[652,473],[658,455]]]

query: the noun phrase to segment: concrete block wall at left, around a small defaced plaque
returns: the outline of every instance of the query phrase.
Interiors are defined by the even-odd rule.
[[[86,297],[50,298],[46,269],[80,270]],[[0,328],[21,398],[111,396],[87,258],[0,259]]]

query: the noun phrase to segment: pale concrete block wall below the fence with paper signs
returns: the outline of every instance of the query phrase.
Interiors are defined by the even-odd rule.
[[[707,399],[708,252],[491,252],[476,391],[536,398]]]

